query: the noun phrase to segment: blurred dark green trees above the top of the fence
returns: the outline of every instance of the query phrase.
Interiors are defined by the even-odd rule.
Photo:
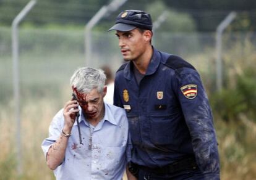
[[[0,1],[0,23],[11,25],[15,15],[27,4],[28,0],[1,0]],[[38,4],[28,14],[26,22],[36,26],[54,25],[77,25],[83,27],[100,7],[111,1],[100,0],[38,0]],[[256,2],[254,0],[129,0],[121,7],[125,9],[142,9],[151,12],[155,18],[164,10],[168,11],[168,22],[171,26],[167,30],[180,31],[213,31],[216,26],[232,10],[241,14],[232,28],[236,30],[255,30]],[[104,24],[113,22],[118,12],[106,14]],[[155,19],[156,20],[156,19]],[[172,23],[173,22],[173,23]],[[183,25],[182,25],[183,23]],[[187,27],[185,26],[187,25]],[[184,26],[186,28],[184,28]],[[181,28],[179,28],[181,27]],[[170,28],[170,29],[169,29]],[[164,30],[164,28],[163,28]]]

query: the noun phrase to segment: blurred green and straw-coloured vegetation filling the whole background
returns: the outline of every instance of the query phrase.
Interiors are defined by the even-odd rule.
[[[11,23],[29,0],[0,0],[0,179],[54,179],[40,144],[54,114],[70,98],[69,78],[83,66],[84,28],[111,1],[38,0],[20,24],[20,94],[22,166],[15,166]],[[256,1],[128,0],[93,28],[93,61],[121,64],[117,39],[106,33],[121,10],[150,12],[153,22],[166,18],[154,32],[153,45],[181,55],[202,76],[213,109],[221,157],[221,179],[256,179]],[[215,31],[229,14],[234,22],[223,34],[223,89],[216,89]]]

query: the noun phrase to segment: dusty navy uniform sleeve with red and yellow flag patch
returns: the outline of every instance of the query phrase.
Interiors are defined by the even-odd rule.
[[[198,167],[203,173],[218,172],[219,157],[213,117],[200,76],[191,68],[176,70],[176,75],[177,81],[173,87],[190,131]],[[187,94],[189,87],[194,89],[194,93],[196,89],[196,93]]]

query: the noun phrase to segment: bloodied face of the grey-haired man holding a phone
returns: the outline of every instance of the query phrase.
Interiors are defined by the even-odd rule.
[[[77,92],[77,101],[88,120],[101,120],[104,111],[103,97],[106,95],[106,86],[103,92],[92,89],[89,93]]]

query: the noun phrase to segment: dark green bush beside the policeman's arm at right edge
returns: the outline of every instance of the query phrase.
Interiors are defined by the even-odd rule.
[[[229,87],[215,92],[210,98],[213,112],[225,121],[237,121],[244,113],[250,119],[256,118],[256,73],[247,68],[243,75],[237,75],[234,88]]]

